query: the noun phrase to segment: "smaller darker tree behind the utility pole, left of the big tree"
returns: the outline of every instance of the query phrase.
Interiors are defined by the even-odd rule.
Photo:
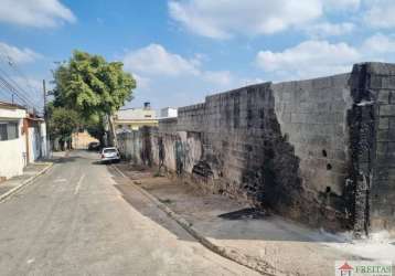
[[[64,107],[51,108],[49,120],[49,134],[51,140],[58,139],[62,150],[65,142],[68,147],[72,141],[72,134],[78,128],[78,114]]]

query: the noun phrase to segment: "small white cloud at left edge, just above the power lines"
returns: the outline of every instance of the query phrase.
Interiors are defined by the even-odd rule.
[[[29,47],[19,49],[0,42],[0,57],[11,63],[29,63],[41,57],[41,55],[30,50]]]

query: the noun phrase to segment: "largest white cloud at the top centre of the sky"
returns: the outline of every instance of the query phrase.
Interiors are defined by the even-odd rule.
[[[173,20],[214,39],[237,34],[271,34],[322,15],[321,0],[179,0],[169,1]]]

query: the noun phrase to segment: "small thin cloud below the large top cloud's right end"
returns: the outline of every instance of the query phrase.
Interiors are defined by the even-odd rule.
[[[351,22],[343,23],[329,23],[322,22],[317,24],[310,24],[306,28],[308,34],[312,38],[325,38],[350,34],[355,30],[355,25]]]

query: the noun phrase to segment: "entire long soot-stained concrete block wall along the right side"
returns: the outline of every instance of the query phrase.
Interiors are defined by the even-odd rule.
[[[206,190],[329,230],[395,227],[395,65],[207,96],[147,137],[152,163]]]

